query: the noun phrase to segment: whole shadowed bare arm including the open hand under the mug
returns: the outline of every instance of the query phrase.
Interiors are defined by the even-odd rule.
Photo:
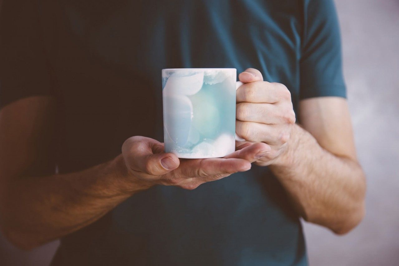
[[[153,185],[195,189],[247,171],[267,145],[239,147],[226,158],[179,160],[163,143],[135,136],[115,159],[76,173],[55,174],[51,97],[29,97],[0,110],[0,226],[16,246],[33,248],[65,236]]]

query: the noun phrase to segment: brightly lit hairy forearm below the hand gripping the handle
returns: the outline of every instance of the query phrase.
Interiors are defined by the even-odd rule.
[[[270,168],[305,220],[345,233],[363,217],[361,167],[320,147],[300,126],[294,125],[286,150]]]

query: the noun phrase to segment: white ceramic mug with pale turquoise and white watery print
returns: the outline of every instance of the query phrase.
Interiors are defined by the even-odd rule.
[[[217,158],[235,151],[235,68],[162,69],[165,152]]]

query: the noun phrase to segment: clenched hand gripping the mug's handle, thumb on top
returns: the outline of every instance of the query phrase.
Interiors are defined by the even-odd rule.
[[[246,69],[239,79],[244,84],[237,89],[236,133],[246,142],[269,145],[267,155],[255,163],[270,165],[283,153],[295,123],[291,93],[283,84],[263,81],[257,69]]]

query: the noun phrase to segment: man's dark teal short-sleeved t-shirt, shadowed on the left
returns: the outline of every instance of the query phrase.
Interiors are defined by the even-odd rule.
[[[59,173],[162,141],[162,68],[254,67],[292,94],[345,97],[332,0],[4,0],[0,105],[57,100]],[[41,175],[38,169],[32,175]],[[61,239],[53,265],[305,265],[298,214],[267,167],[193,191],[156,186]]]

